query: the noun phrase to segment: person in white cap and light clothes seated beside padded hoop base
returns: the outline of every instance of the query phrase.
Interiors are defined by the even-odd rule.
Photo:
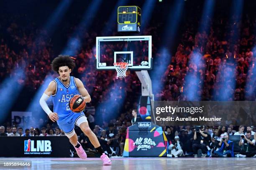
[[[183,143],[179,141],[179,136],[175,136],[174,139],[174,143],[168,146],[169,153],[171,154],[167,154],[167,157],[184,157],[184,153],[182,150]]]

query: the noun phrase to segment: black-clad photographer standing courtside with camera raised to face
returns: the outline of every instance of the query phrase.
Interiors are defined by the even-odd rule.
[[[197,152],[199,149],[202,150],[202,158],[206,157],[207,153],[207,145],[209,145],[207,141],[207,133],[204,132],[204,126],[197,126],[194,132],[194,140],[192,145],[192,150],[195,154],[195,158],[197,158]]]

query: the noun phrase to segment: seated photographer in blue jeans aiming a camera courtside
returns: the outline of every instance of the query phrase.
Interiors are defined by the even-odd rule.
[[[234,157],[234,145],[231,140],[229,140],[229,135],[225,134],[219,143],[220,149],[214,151],[217,157]]]

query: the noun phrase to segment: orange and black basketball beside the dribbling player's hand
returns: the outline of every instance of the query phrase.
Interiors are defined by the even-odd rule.
[[[73,112],[82,112],[85,108],[86,102],[84,100],[84,97],[75,95],[71,98],[69,101],[69,108]]]

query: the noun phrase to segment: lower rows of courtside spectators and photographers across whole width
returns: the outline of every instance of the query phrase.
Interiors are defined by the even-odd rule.
[[[112,120],[113,122],[114,120]],[[128,126],[131,125],[130,123]],[[90,123],[90,126],[92,124]],[[100,127],[92,127],[100,144],[109,156],[122,156],[126,137],[126,129],[120,120],[105,124]],[[89,138],[79,128],[75,128],[79,135],[79,142],[84,150],[97,153]],[[169,126],[164,127],[168,143],[168,157],[253,157],[256,155],[256,126],[240,126],[238,129],[229,126]],[[46,128],[31,127],[25,129],[16,126],[0,126],[0,136],[23,137],[23,136],[65,136],[58,127],[47,124]],[[232,139],[231,139],[232,138]],[[71,153],[74,148],[71,147]]]

